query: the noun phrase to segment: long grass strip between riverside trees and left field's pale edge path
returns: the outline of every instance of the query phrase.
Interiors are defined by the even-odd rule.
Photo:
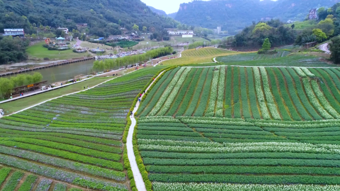
[[[5,115],[9,115],[13,112],[17,112],[20,111],[22,109],[25,109],[27,107],[36,105],[38,103],[41,103],[43,101],[55,98],[55,97],[59,97],[65,94],[69,94],[69,93],[73,93],[73,92],[77,92],[77,91],[81,91],[84,90],[84,86],[87,87],[93,87],[101,82],[104,82],[106,80],[112,79],[113,77],[94,77],[91,79],[88,79],[86,81],[77,83],[77,84],[73,84],[70,86],[66,86],[63,88],[59,88],[53,91],[49,91],[46,93],[42,93],[42,94],[38,94],[38,95],[34,95],[31,97],[26,97],[26,98],[22,98],[19,100],[15,100],[12,102],[7,102],[7,103],[3,103],[0,104],[0,108],[3,109],[3,111],[5,112]]]

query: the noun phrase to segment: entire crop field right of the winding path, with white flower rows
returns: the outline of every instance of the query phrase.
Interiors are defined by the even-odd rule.
[[[170,70],[135,128],[153,190],[338,191],[339,92],[338,68]]]

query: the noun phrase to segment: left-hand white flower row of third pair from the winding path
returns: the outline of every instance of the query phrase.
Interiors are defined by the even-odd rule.
[[[257,94],[258,104],[261,108],[262,117],[265,120],[270,120],[271,118],[269,116],[267,106],[265,105],[265,100],[264,100],[262,87],[261,87],[261,78],[260,78],[258,68],[254,66],[253,70],[254,70],[254,77],[255,77],[256,94]]]

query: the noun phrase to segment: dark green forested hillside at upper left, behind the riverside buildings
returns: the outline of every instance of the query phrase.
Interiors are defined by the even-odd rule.
[[[161,30],[172,28],[176,22],[151,11],[140,0],[0,1],[0,32],[3,28],[24,28],[27,31],[33,23],[53,28],[69,27],[69,30],[76,28],[76,23],[87,23],[89,33],[103,31],[120,34],[119,29],[124,26],[130,29],[137,24],[140,29],[146,26],[148,29],[155,27]]]

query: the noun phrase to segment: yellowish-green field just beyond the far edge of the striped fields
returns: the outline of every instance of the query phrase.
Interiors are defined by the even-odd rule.
[[[221,50],[216,48],[201,48],[190,49],[182,52],[182,57],[179,59],[173,59],[164,61],[164,65],[180,65],[180,64],[197,64],[197,63],[211,63],[212,59],[220,56],[242,54],[242,52],[233,52],[227,50]]]

